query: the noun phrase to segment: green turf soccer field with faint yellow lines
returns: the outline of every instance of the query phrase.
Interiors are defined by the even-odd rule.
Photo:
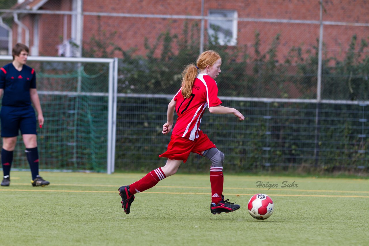
[[[48,187],[30,175],[13,171],[0,187],[0,245],[369,245],[368,179],[225,175],[225,199],[241,208],[213,215],[208,175],[175,174],[127,215],[118,187],[144,174],[41,173]],[[247,212],[256,193],[275,202],[264,221]]]

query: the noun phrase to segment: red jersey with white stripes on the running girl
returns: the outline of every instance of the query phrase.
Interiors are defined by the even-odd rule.
[[[217,83],[205,73],[196,77],[189,98],[183,98],[180,89],[173,100],[176,101],[175,110],[178,118],[172,134],[192,141],[199,137],[201,118],[206,108],[222,103],[218,98]]]

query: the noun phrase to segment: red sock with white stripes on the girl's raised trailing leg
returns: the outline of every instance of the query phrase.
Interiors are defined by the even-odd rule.
[[[145,177],[136,181],[135,183],[130,185],[130,193],[132,195],[136,194],[137,192],[142,192],[148,190],[149,188],[154,187],[160,180],[165,179],[166,176],[161,168],[157,168],[152,170]]]

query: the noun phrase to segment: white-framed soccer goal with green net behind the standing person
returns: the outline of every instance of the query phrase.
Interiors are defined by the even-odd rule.
[[[0,56],[0,66],[12,56]],[[114,172],[117,59],[30,56],[45,118],[41,170]],[[21,137],[14,169],[28,169]],[[12,168],[13,170],[13,168]]]

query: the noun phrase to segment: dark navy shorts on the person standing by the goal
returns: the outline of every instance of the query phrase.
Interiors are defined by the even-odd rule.
[[[21,134],[37,134],[34,108],[2,106],[0,111],[1,137],[10,138]]]

